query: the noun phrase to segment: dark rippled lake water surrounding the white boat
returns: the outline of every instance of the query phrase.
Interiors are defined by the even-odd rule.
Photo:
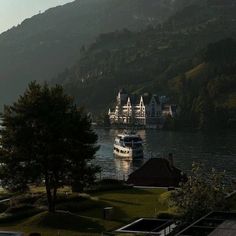
[[[102,167],[102,177],[127,178],[151,156],[165,157],[174,154],[175,165],[184,171],[191,169],[192,163],[203,162],[207,167],[225,170],[236,178],[236,133],[202,134],[156,130],[141,130],[138,134],[144,140],[143,161],[132,162],[113,157],[113,141],[118,130],[96,130],[100,150],[97,164]]]

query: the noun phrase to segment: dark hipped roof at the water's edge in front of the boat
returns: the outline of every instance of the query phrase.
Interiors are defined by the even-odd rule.
[[[136,186],[177,187],[185,179],[181,170],[172,166],[167,159],[153,158],[130,174],[127,182]]]

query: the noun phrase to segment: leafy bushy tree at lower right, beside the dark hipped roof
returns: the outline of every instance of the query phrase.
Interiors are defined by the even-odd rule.
[[[194,163],[188,181],[172,192],[171,201],[185,221],[225,207],[226,178],[215,169]]]

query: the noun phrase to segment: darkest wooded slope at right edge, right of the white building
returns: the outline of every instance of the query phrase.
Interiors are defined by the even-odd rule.
[[[209,44],[201,62],[169,81],[181,107],[171,128],[236,128],[236,41]]]

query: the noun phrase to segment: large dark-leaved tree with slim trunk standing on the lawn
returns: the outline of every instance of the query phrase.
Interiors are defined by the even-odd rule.
[[[2,119],[0,178],[5,188],[24,191],[44,183],[48,209],[54,212],[59,187],[80,191],[94,181],[97,135],[61,86],[30,83],[17,102],[5,106]]]

